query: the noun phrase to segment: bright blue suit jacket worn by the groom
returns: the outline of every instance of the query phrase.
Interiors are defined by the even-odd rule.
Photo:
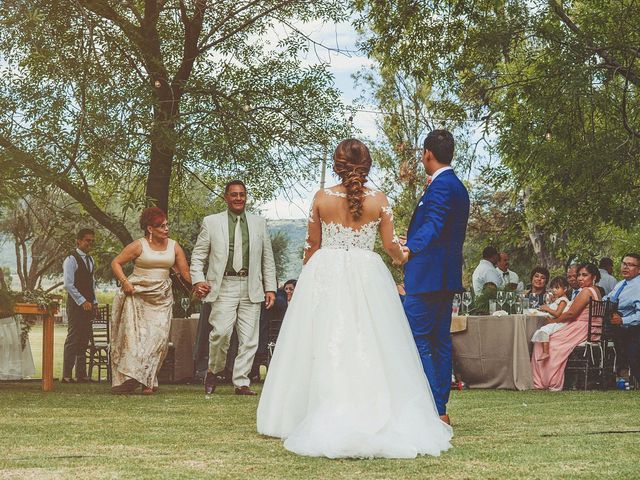
[[[440,173],[413,212],[404,269],[409,295],[462,291],[462,244],[469,219],[469,193],[453,170]]]

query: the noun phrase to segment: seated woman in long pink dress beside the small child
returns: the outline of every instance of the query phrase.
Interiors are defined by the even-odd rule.
[[[543,356],[542,344],[535,343],[531,357],[533,386],[539,390],[559,391],[564,386],[564,367],[575,347],[587,339],[589,328],[589,299],[600,300],[600,291],[594,286],[600,280],[600,271],[592,263],[578,267],[580,293],[571,307],[550,322],[565,322],[567,326],[549,337],[549,358]],[[602,321],[602,319],[598,319]]]

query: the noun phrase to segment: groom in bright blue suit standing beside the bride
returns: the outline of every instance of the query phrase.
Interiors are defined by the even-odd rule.
[[[413,212],[405,252],[404,309],[442,421],[449,423],[451,303],[462,288],[462,244],[469,194],[451,169],[453,136],[434,130],[424,141],[422,164],[431,183]]]

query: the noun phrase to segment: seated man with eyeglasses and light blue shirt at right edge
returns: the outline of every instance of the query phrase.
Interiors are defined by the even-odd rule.
[[[620,273],[623,280],[618,282],[605,297],[618,302],[618,311],[611,317],[614,342],[620,362],[628,362],[630,376],[640,381],[640,254],[628,253],[622,259]]]

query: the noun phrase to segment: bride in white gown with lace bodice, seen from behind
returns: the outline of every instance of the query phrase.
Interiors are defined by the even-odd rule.
[[[414,458],[450,447],[376,231],[406,261],[386,196],[364,187],[360,141],[334,153],[341,183],[316,193],[304,264],[258,405],[258,432],[308,456]]]

